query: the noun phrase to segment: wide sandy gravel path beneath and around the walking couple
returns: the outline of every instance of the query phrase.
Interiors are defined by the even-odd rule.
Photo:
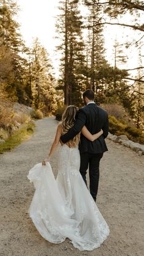
[[[98,208],[110,227],[110,235],[98,249],[80,252],[67,239],[62,244],[45,241],[27,211],[34,194],[27,180],[29,169],[49,152],[57,122],[54,117],[36,122],[35,134],[15,150],[0,155],[1,256],[142,256],[144,251],[144,157],[107,140],[109,152],[101,161]],[[56,155],[51,165],[57,175]]]

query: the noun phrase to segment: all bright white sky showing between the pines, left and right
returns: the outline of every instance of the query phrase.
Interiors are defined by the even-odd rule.
[[[56,76],[59,75],[59,54],[56,53],[56,46],[59,44],[56,36],[56,15],[59,12],[59,0],[17,0],[20,6],[17,20],[21,25],[21,34],[27,46],[32,45],[35,37],[38,37],[41,44],[48,50],[52,60]],[[129,15],[124,17],[125,22],[131,23]],[[106,57],[111,65],[113,65],[113,40],[117,37],[120,43],[129,38],[131,41],[136,37],[138,40],[141,33],[124,29],[120,26],[107,26],[104,32],[106,42]],[[124,50],[129,56],[128,68],[135,68],[138,65],[137,50],[131,47]],[[125,68],[125,67],[123,67]]]

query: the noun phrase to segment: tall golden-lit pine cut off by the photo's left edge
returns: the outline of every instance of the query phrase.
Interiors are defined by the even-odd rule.
[[[15,21],[17,11],[15,1],[0,0],[0,53],[3,56],[1,63],[5,60],[5,64],[10,68],[7,76],[4,76],[3,71],[3,79],[0,82],[1,91],[6,98],[24,103],[23,78],[27,61],[20,54],[24,53],[26,48],[19,32],[20,25]]]

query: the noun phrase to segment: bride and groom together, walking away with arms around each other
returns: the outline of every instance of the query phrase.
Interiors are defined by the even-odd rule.
[[[41,236],[51,243],[69,238],[80,251],[92,251],[109,235],[109,227],[96,206],[99,161],[107,151],[107,112],[94,102],[92,90],[83,93],[84,108],[68,106],[57,127],[48,158],[27,176],[35,194],[29,214]],[[57,146],[59,171],[55,180],[49,161]],[[86,173],[89,166],[90,192]]]

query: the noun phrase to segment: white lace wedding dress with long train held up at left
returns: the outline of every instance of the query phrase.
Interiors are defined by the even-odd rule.
[[[56,180],[49,162],[29,171],[27,178],[35,186],[29,215],[47,241],[62,243],[69,238],[80,251],[92,251],[106,240],[109,227],[79,172],[78,148],[61,146],[58,161]]]

